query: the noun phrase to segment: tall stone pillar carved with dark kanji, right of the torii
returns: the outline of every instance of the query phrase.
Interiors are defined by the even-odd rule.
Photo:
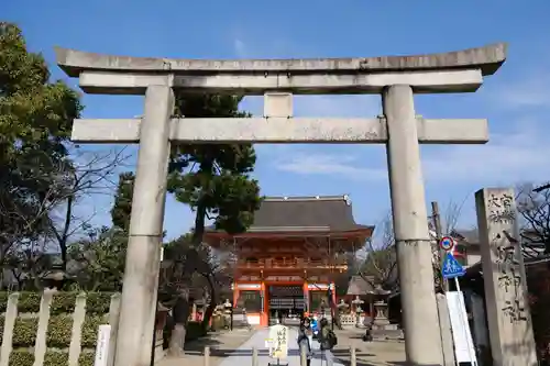
[[[494,365],[537,365],[514,190],[479,190],[475,203]]]

